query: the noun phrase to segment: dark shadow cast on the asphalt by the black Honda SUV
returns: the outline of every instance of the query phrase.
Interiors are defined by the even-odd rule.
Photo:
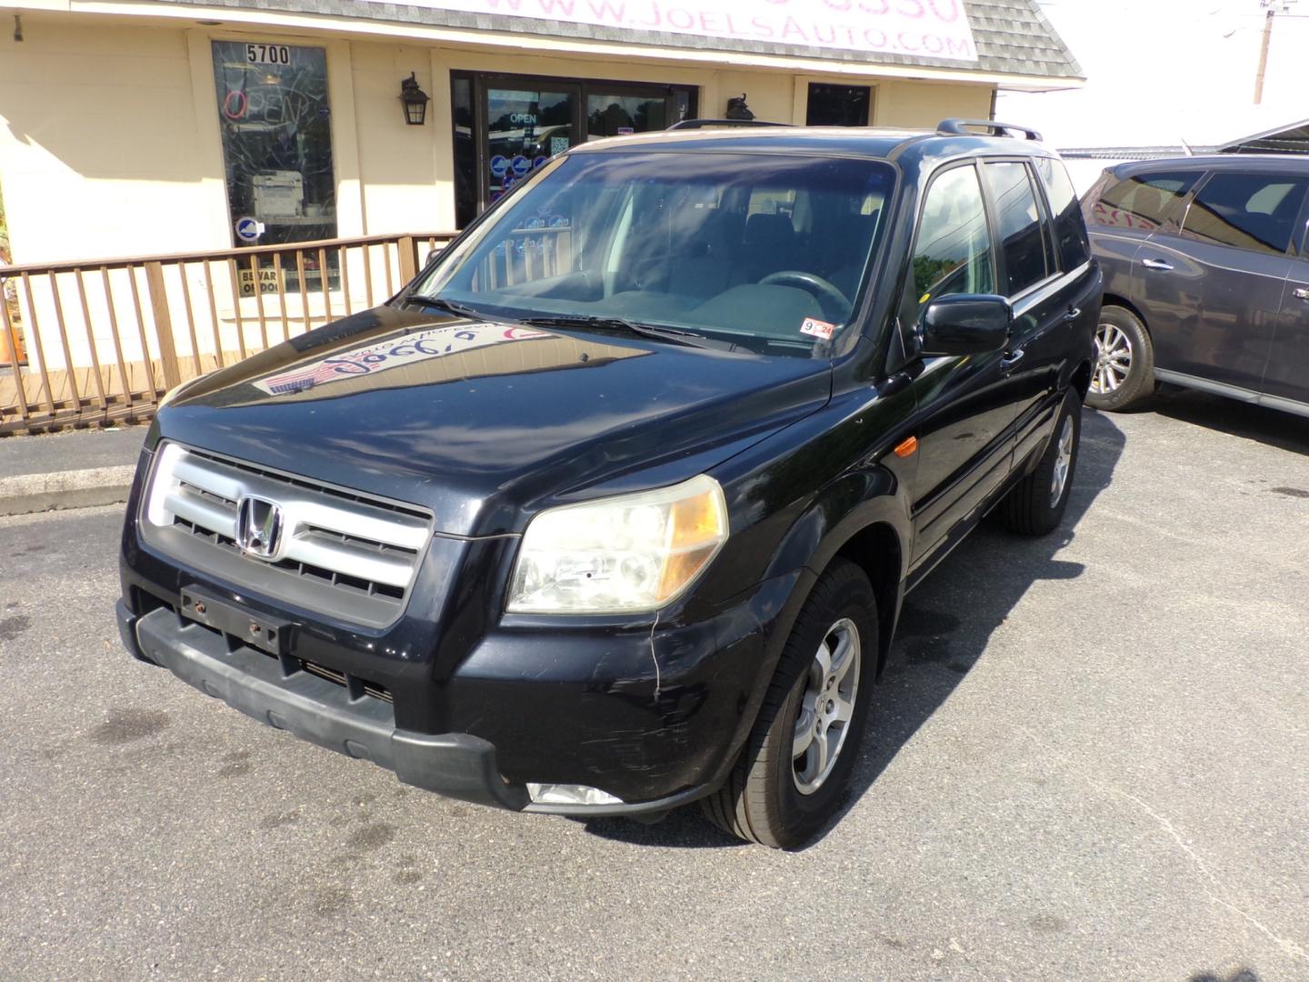
[[[873,689],[869,731],[850,795],[809,846],[840,822],[899,749],[950,697],[986,652],[991,634],[1033,583],[1081,575],[1080,563],[1059,559],[1058,553],[1072,542],[1088,509],[1113,481],[1123,443],[1123,433],[1110,416],[1085,410],[1073,491],[1060,526],[1043,538],[1024,538],[1007,533],[992,516],[905,601],[886,670]],[[586,821],[586,830],[645,846],[745,845],[711,826],[696,807],[677,809],[654,825],[593,818]]]

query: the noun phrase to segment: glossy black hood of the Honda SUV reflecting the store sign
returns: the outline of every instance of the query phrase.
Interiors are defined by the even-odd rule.
[[[700,473],[830,391],[822,360],[382,306],[190,384],[157,426],[432,508],[445,533],[499,534],[552,503]]]

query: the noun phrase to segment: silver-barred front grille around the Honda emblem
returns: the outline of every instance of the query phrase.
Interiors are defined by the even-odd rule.
[[[274,559],[237,545],[245,498],[281,509]],[[271,581],[281,588],[295,581],[293,592],[314,609],[368,625],[390,623],[403,610],[432,534],[432,516],[418,508],[179,444],[157,454],[144,517],[154,545],[179,559],[208,559],[207,572],[255,591],[267,592],[270,576],[283,577]]]

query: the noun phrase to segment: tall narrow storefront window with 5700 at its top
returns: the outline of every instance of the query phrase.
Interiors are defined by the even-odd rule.
[[[213,79],[236,245],[334,238],[323,48],[216,41]]]

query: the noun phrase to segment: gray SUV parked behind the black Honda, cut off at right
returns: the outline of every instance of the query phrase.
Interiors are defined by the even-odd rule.
[[[1105,272],[1086,403],[1173,382],[1309,416],[1309,160],[1122,164],[1083,211]]]

